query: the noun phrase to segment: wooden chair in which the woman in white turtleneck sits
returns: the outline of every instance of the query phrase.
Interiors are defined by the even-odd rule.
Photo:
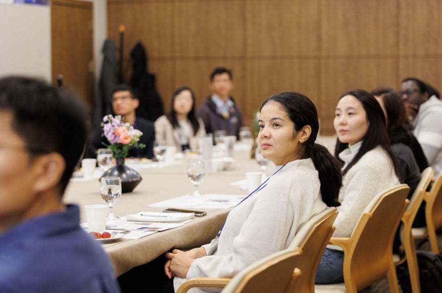
[[[365,208],[350,237],[331,237],[329,243],[340,246],[344,252],[345,282],[315,285],[315,292],[357,293],[385,276],[390,292],[399,292],[392,244],[409,203],[409,190],[410,187],[401,184],[378,193]]]

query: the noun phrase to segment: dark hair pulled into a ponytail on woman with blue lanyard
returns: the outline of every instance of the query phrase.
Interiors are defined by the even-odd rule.
[[[268,102],[276,102],[284,108],[296,131],[300,131],[306,125],[311,127],[310,137],[302,143],[301,159],[312,159],[321,181],[322,201],[329,207],[340,206],[338,197],[342,186],[342,164],[324,146],[315,143],[319,130],[315,105],[307,96],[290,91],[272,95],[263,103],[260,111]]]

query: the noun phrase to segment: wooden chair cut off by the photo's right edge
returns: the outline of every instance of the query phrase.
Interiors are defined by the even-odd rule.
[[[438,254],[436,230],[442,227],[442,172],[434,181],[431,190],[426,192],[424,201],[426,203],[425,220],[427,227],[413,228],[413,238],[420,239],[428,236],[431,251]]]

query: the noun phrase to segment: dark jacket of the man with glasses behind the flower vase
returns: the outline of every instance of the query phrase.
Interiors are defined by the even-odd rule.
[[[154,156],[154,141],[155,141],[155,127],[154,123],[145,120],[140,117],[136,117],[135,127],[140,130],[143,135],[141,135],[139,142],[144,143],[146,146],[144,149],[130,149],[128,157],[138,157],[138,158],[152,158]],[[109,141],[105,136],[103,136],[103,129],[99,126],[97,127],[88,143],[87,150],[85,152],[85,158],[96,158],[96,151],[100,148],[106,148],[103,143],[109,144]]]

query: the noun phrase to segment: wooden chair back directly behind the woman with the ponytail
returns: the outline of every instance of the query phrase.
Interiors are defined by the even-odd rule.
[[[298,237],[303,238],[301,243],[296,243],[299,241],[297,237],[290,243],[289,248],[299,245],[303,250],[303,254],[297,258],[295,264],[303,274],[293,283],[290,292],[315,292],[316,270],[328,241],[334,232],[333,222],[337,214],[336,208],[330,207],[313,217],[297,233]]]

